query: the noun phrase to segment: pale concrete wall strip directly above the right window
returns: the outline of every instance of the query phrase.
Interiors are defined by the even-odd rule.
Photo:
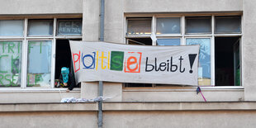
[[[242,0],[125,0],[125,12],[232,12],[242,11]]]

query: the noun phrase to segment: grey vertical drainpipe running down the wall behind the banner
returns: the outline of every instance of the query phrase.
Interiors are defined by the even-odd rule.
[[[104,41],[104,15],[105,15],[105,0],[101,0],[101,21],[100,21],[100,40]],[[103,96],[103,82],[98,82],[98,95],[99,97]],[[98,102],[98,112],[97,112],[97,126],[102,128],[102,98]]]

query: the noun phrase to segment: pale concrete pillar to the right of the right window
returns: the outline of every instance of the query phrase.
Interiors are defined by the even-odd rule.
[[[256,1],[244,0],[244,26],[242,40],[242,71],[244,98],[246,101],[256,101]]]

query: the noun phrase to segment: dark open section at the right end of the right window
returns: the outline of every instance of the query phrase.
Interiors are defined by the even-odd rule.
[[[239,86],[239,37],[216,37],[216,86]]]

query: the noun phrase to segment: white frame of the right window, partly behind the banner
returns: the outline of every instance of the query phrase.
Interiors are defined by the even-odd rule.
[[[216,27],[216,18],[215,17],[219,17],[219,16],[223,16],[223,17],[235,17],[235,16],[239,16],[241,17],[241,21],[240,21],[240,27],[241,27],[241,33],[215,33],[215,27]],[[242,50],[242,42],[243,42],[243,14],[241,12],[230,12],[230,13],[205,13],[205,14],[201,14],[201,13],[195,13],[195,14],[151,14],[151,15],[140,15],[140,16],[136,16],[135,14],[128,14],[125,16],[126,18],[126,28],[125,28],[125,33],[127,30],[127,18],[129,17],[137,17],[137,18],[143,18],[143,17],[152,17],[152,21],[151,21],[151,33],[154,34],[156,36],[157,39],[159,38],[181,38],[181,45],[186,45],[186,40],[187,38],[210,38],[211,40],[211,85],[210,86],[203,86],[202,88],[244,88],[243,85],[243,61],[242,61],[242,55],[243,55],[243,50]],[[181,21],[181,34],[177,35],[177,34],[161,34],[161,35],[156,35],[156,18],[157,17],[180,17],[180,21]],[[211,17],[211,33],[205,33],[205,34],[190,34],[190,33],[186,33],[186,17]],[[239,36],[240,38],[240,45],[239,45],[239,56],[240,56],[240,86],[216,86],[215,85],[215,37],[228,37],[228,36]],[[145,37],[145,36],[129,36],[125,34],[125,38],[124,40],[129,39],[130,37],[133,38],[141,38],[141,37]],[[150,37],[150,36],[147,36]],[[126,41],[127,43],[127,41]],[[156,41],[154,42],[154,40],[152,40],[152,45],[156,45]],[[152,87],[155,87],[155,85],[153,84]],[[188,86],[189,87],[189,86]],[[125,84],[124,84],[124,88],[125,88]],[[140,87],[138,87],[140,88]],[[168,88],[172,88],[171,86]],[[177,87],[175,87],[177,88]],[[184,86],[181,86],[181,88],[184,88]],[[195,88],[195,87],[190,87],[190,88]]]

